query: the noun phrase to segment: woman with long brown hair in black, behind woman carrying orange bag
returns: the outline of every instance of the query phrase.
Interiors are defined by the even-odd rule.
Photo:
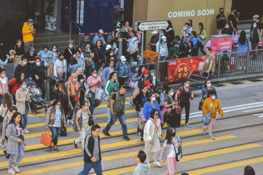
[[[64,110],[66,119],[67,119],[67,125],[69,125],[69,122],[71,121],[71,113],[69,114],[69,109],[72,109],[71,104],[69,102],[69,93],[66,89],[66,85],[63,83],[60,83],[59,85],[59,91],[60,91],[60,100],[62,101],[62,108]]]

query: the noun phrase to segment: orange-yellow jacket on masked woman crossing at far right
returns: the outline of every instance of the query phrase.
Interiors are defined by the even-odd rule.
[[[212,104],[213,104],[213,100],[211,98],[206,98],[206,100],[203,102],[203,109],[202,109],[203,114],[205,116],[207,116],[208,113],[212,109],[211,118],[215,118],[217,116],[217,110],[218,110],[218,113],[220,114],[220,116],[223,117],[224,112],[222,111],[219,100],[217,98],[215,99],[215,103],[214,103],[213,108],[212,108]]]

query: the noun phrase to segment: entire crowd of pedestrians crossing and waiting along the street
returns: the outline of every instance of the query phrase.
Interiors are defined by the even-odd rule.
[[[235,24],[236,9],[228,18],[233,32],[237,31]],[[217,31],[224,33],[227,24],[224,22],[224,9],[220,9],[217,16]],[[181,30],[181,37],[174,34],[172,23],[169,22],[167,30],[160,34],[153,31],[154,35],[149,43],[150,49],[160,54],[160,61],[185,56],[206,54],[206,62],[203,64],[205,76],[215,73],[215,56],[211,54],[211,48],[203,50],[206,43],[206,30],[203,23],[199,23],[198,33],[194,31],[193,21],[189,19]],[[131,62],[138,64],[138,37],[127,22],[121,31],[125,33],[123,53],[118,50],[118,37],[120,33],[111,32],[105,39],[102,29],[98,35],[91,39],[85,34],[82,44],[76,47],[73,41],[68,42],[68,47],[62,52],[56,45],[51,49],[44,46],[43,50],[35,53],[33,48],[33,20],[24,23],[22,33],[23,41],[17,39],[15,48],[10,50],[10,55],[1,66],[15,64],[14,78],[8,81],[6,70],[0,68],[0,116],[2,121],[1,147],[5,147],[4,153],[9,158],[8,174],[19,172],[19,162],[24,156],[26,142],[24,133],[27,129],[28,113],[32,112],[32,93],[34,89],[41,91],[41,99],[46,98],[46,80],[55,79],[53,97],[46,110],[46,131],[52,133],[52,145],[48,148],[52,151],[60,151],[57,148],[57,140],[63,132],[66,134],[66,125],[70,123],[80,137],[73,141],[73,146],[78,148],[81,143],[84,151],[84,169],[80,174],[88,174],[91,168],[96,174],[102,174],[100,153],[100,126],[94,125],[94,110],[100,102],[107,101],[107,126],[102,130],[106,136],[111,136],[109,130],[120,121],[123,130],[123,139],[130,140],[127,133],[125,117],[125,100],[127,80],[130,88],[134,89],[131,105],[136,109],[138,117],[137,135],[145,143],[145,151],[139,151],[136,156],[137,167],[134,174],[150,174],[150,160],[162,167],[167,162],[167,171],[164,174],[174,174],[181,159],[182,141],[176,135],[176,127],[181,125],[181,112],[185,109],[185,127],[189,124],[190,100],[194,99],[194,93],[190,86],[190,80],[185,80],[179,89],[168,88],[167,82],[162,82],[160,94],[156,91],[156,77],[151,66],[145,64],[135,71],[131,69]],[[253,46],[257,44],[262,35],[259,17],[255,16],[255,22],[251,30]],[[158,42],[161,35],[161,42]],[[253,40],[254,39],[254,40]],[[246,42],[246,39],[245,39]],[[243,44],[242,37],[240,43]],[[121,55],[119,57],[119,54]],[[61,81],[61,82],[59,82]],[[31,91],[33,89],[33,91]],[[14,106],[15,105],[15,106]],[[209,131],[210,139],[212,127],[215,126],[216,113],[221,117],[224,113],[217,98],[217,91],[210,80],[206,80],[202,89],[201,110],[203,111],[203,134]],[[164,123],[168,127],[163,148],[161,148],[161,136]],[[91,127],[91,133],[89,133]],[[154,149],[154,156],[150,155]],[[13,160],[18,156],[15,163]],[[152,158],[151,158],[152,157]]]

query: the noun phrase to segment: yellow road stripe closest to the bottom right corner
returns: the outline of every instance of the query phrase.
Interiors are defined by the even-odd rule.
[[[242,160],[242,161],[238,161],[238,162],[235,162],[235,163],[228,163],[228,164],[225,164],[225,165],[217,165],[217,166],[214,166],[214,167],[206,167],[206,168],[203,168],[203,169],[197,169],[197,170],[188,172],[188,174],[190,174],[190,175],[201,175],[201,174],[206,174],[206,173],[210,173],[210,172],[219,172],[219,171],[222,171],[222,170],[235,168],[235,167],[244,167],[246,165],[251,165],[251,164],[254,164],[254,163],[262,163],[262,162],[263,162],[263,157],[251,158],[251,159],[248,159],[248,160]]]

